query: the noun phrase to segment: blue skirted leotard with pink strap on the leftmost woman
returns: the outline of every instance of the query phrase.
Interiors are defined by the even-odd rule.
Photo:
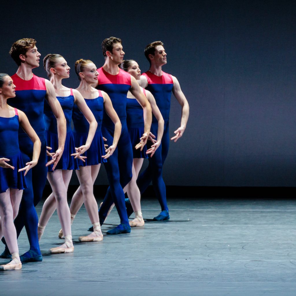
[[[20,168],[24,167],[18,142],[18,131],[17,109],[15,109],[13,117],[0,117],[0,158],[8,158],[10,161],[7,163],[15,168],[14,170],[0,168],[0,193],[6,192],[8,188],[27,188],[24,172],[18,172]]]

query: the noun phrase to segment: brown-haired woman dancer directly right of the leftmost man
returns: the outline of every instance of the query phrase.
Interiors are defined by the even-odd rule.
[[[38,223],[38,237],[41,238],[44,228],[52,216],[52,208],[57,208],[59,221],[61,222],[63,232],[65,234],[65,243],[60,247],[51,248],[52,253],[70,253],[74,251],[71,224],[70,210],[67,203],[67,188],[72,176],[72,170],[78,169],[77,157],[80,157],[91,145],[96,132],[97,123],[94,115],[87,107],[81,94],[62,85],[62,79],[70,77],[70,67],[66,60],[59,54],[48,54],[43,59],[44,68],[50,77],[57,99],[59,100],[67,121],[67,135],[65,141],[65,149],[61,160],[56,166],[56,170],[52,170],[52,166],[48,167],[47,179],[52,187],[52,194],[44,202],[41,216]],[[75,153],[75,145],[73,132],[71,130],[71,118],[74,103],[81,110],[86,120],[89,122],[89,133],[85,145],[77,148]],[[55,149],[57,145],[57,126],[55,124],[54,115],[49,109],[49,106],[44,106],[44,121],[46,124],[46,139],[47,145]],[[74,156],[75,158],[71,157]],[[82,159],[82,158],[81,158]]]

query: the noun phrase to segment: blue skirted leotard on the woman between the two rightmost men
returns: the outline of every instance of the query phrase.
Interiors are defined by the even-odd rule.
[[[146,91],[143,89],[146,96]],[[126,102],[126,123],[128,125],[128,133],[133,147],[133,158],[148,158],[146,145],[142,149],[136,149],[135,146],[140,142],[144,133],[144,117],[143,108],[136,99],[127,98]]]

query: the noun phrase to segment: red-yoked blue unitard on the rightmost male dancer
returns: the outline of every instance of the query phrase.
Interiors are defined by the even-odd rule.
[[[152,185],[157,199],[160,203],[161,210],[168,211],[165,183],[163,181],[162,170],[165,158],[168,155],[168,147],[170,142],[168,122],[170,114],[170,97],[173,89],[173,78],[170,74],[165,72],[163,72],[162,76],[154,75],[149,71],[143,73],[142,75],[147,78],[148,86],[146,87],[146,89],[151,91],[151,93],[153,94],[156,104],[165,121],[165,124],[161,144],[156,150],[153,157],[149,157],[149,165],[146,170],[144,170],[144,172],[141,173],[141,175],[139,176],[137,184],[139,186],[140,192],[143,193],[152,181]],[[157,136],[157,129],[157,119],[153,115],[151,132],[155,136]]]

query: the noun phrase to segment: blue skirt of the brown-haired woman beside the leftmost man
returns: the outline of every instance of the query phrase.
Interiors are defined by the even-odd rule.
[[[75,144],[74,144],[73,132],[70,131],[66,134],[66,141],[64,152],[62,154],[61,159],[57,163],[55,170],[78,170],[78,161],[71,156],[72,153],[75,153]],[[46,145],[52,147],[52,150],[49,152],[55,152],[59,147],[58,137],[56,133],[51,133],[50,131],[46,131]],[[47,161],[50,161],[51,157],[47,156]],[[52,172],[53,165],[49,165],[48,171]]]

